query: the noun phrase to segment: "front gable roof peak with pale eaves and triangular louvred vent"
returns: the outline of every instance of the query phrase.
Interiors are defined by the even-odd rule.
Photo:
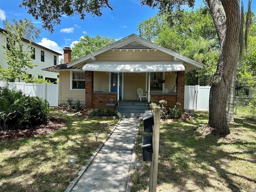
[[[155,44],[154,42],[151,42],[149,40],[146,40],[140,36],[137,36],[136,34],[131,34],[121,40],[118,40],[104,48],[101,48],[97,51],[94,51],[82,58],[79,58],[75,61],[72,61],[70,63],[67,64],[67,67],[78,67],[81,68],[84,64],[86,64],[86,62],[90,61],[90,60],[95,60],[95,56],[106,52],[107,50],[142,50],[142,49],[146,49],[146,50],[160,50],[166,54],[169,54],[171,56],[174,57],[174,60],[182,60],[188,64],[191,64],[192,66],[194,66],[194,68],[203,68],[203,65],[199,62],[196,62],[190,58],[187,58],[185,56],[182,56],[181,54],[178,54],[174,51],[171,51],[169,49],[166,49],[162,46],[159,46],[158,44]]]

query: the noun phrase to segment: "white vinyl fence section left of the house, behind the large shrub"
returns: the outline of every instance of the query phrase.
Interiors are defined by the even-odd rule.
[[[24,82],[8,82],[9,89],[21,90],[24,94],[38,96],[46,99],[50,106],[58,106],[59,84],[39,84]],[[6,82],[0,81],[0,86],[5,86]]]

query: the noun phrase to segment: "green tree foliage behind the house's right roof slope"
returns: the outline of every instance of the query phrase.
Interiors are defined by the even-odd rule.
[[[171,13],[171,23],[166,13],[140,22],[140,36],[204,64],[203,69],[186,73],[185,84],[210,86],[220,55],[210,10],[200,6],[196,10],[176,12]],[[180,17],[175,18],[176,14]]]

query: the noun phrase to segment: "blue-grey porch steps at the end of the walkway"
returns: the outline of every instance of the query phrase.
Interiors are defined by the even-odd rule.
[[[140,101],[120,101],[120,105],[115,109],[122,116],[142,117],[145,110],[150,110],[150,106],[146,106],[146,102]]]

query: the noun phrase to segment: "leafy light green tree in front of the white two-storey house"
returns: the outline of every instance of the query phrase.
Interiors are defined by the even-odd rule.
[[[9,23],[7,20],[4,22],[4,28],[6,29],[6,38],[4,38],[4,42],[6,44],[2,44],[2,48],[4,48],[6,63],[8,64],[8,68],[4,68],[0,64],[0,79],[5,79],[8,82],[14,82],[16,78],[18,80],[25,80],[28,78],[28,72],[26,68],[33,68],[34,64],[32,64],[32,50],[31,50],[31,42],[32,38],[36,34],[30,34],[31,31],[37,31],[36,28],[32,26],[32,21],[30,20],[20,20],[20,23],[15,19],[12,20],[14,23]],[[28,30],[30,29],[30,30]],[[31,37],[30,42],[27,44],[23,42],[23,35],[27,37]]]

